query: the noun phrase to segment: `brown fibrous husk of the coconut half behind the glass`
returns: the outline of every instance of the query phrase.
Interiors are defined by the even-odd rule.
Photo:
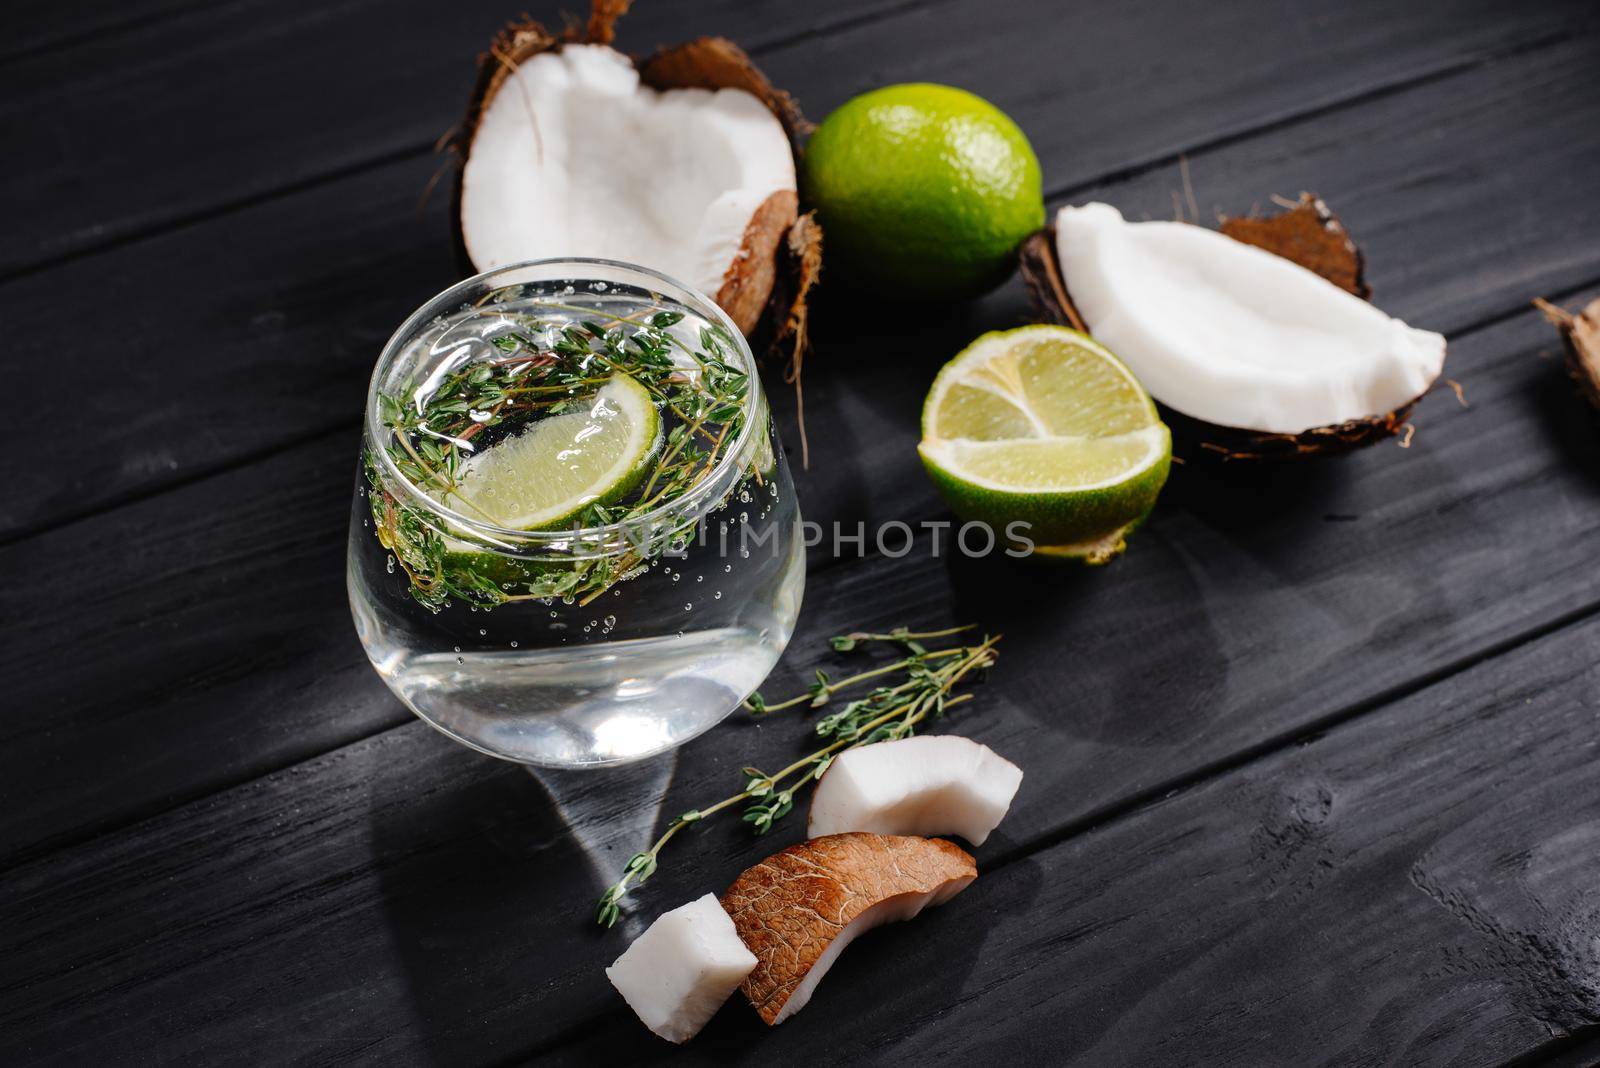
[[[558,51],[571,43],[611,45],[616,22],[629,6],[630,0],[594,0],[587,22],[568,26],[558,34],[533,19],[512,22],[480,56],[478,78],[467,115],[450,141],[458,157],[451,203],[454,243],[458,256],[467,267],[475,270],[461,232],[461,179],[483,109],[510,74],[533,56]],[[634,58],[634,64],[638,67],[640,80],[656,90],[738,88],[752,93],[782,123],[798,163],[800,142],[810,131],[810,123],[794,98],[774,88],[733,42],[701,37],[685,45],[662,48],[646,59]],[[786,352],[789,361],[786,379],[794,381],[797,389],[806,347],[806,301],[821,262],[821,227],[814,217],[802,216],[798,208],[798,198],[790,190],[768,197],[746,227],[739,254],[728,267],[722,286],[710,294],[752,342]]]

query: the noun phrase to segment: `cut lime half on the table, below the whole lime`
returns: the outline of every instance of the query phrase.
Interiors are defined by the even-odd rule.
[[[918,452],[960,518],[1045,556],[1106,563],[1155,505],[1171,433],[1104,345],[1024,326],[984,334],[939,371]]]

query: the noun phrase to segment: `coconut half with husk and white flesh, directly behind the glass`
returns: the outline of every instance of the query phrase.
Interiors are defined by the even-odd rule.
[[[584,29],[506,29],[456,139],[458,233],[477,270],[562,256],[651,267],[746,334],[805,344],[821,230],[797,217],[794,101],[736,45],[699,38],[635,62],[611,48],[626,2]]]

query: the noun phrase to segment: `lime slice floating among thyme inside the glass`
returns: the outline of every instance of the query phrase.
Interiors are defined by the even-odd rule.
[[[514,531],[570,524],[594,502],[613,504],[650,472],[661,414],[650,392],[613,376],[598,393],[461,465],[443,500],[474,520]]]

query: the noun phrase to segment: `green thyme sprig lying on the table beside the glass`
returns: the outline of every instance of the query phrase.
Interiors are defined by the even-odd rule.
[[[843,689],[859,686],[869,679],[888,679],[870,689],[862,697],[846,702],[837,711],[818,718],[814,732],[827,739],[827,743],[813,753],[806,753],[787,767],[766,774],[758,767],[741,769],[744,788],[738,793],[699,809],[682,814],[661,838],[643,852],[629,857],[622,867],[622,875],[606,887],[595,905],[595,923],[610,927],[621,915],[621,902],[630,887],[637,887],[656,873],[661,851],[683,828],[701,823],[718,812],[744,804],[739,817],[750,825],[757,835],[773,830],[773,825],[786,817],[795,804],[795,796],[822,777],[834,756],[843,750],[874,742],[888,742],[910,737],[917,726],[928,718],[941,718],[950,707],[971,700],[971,694],[954,694],[952,691],[970,679],[974,671],[981,671],[995,662],[998,652],[995,646],[1000,635],[984,636],[976,644],[958,644],[942,649],[930,649],[923,643],[934,638],[947,638],[971,630],[971,627],[952,627],[949,630],[910,632],[904,627],[888,633],[853,632],[835,635],[829,640],[838,652],[851,652],[874,643],[898,646],[906,656],[866,671],[856,671],[834,679],[826,671],[816,673],[816,681],[800,695],[768,703],[760,694],[752,694],[744,707],[757,716],[766,716],[787,708],[805,705],[821,708],[832,702],[834,695]],[[898,681],[894,681],[898,678]]]

